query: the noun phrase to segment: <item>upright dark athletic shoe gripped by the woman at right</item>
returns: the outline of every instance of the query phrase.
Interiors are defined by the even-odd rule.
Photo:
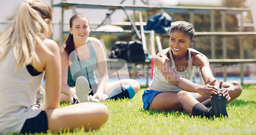
[[[215,117],[221,117],[222,115],[225,117],[228,117],[227,110],[226,110],[226,104],[227,99],[223,97],[223,91],[224,89],[221,86],[218,86],[218,89],[220,91],[219,94],[214,95],[212,94],[211,102],[212,102],[212,109],[214,110]]]

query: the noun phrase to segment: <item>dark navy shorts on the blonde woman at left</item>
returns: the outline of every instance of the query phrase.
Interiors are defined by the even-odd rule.
[[[34,118],[27,119],[20,133],[35,133],[45,132],[48,130],[48,119],[45,111],[41,111]]]

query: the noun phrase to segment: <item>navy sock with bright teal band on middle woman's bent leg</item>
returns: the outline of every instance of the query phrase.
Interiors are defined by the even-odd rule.
[[[121,87],[114,89],[114,91],[108,95],[109,96],[108,99],[115,99],[115,100],[117,100],[118,98],[132,99],[134,95],[135,95],[135,91],[132,86],[123,85]]]

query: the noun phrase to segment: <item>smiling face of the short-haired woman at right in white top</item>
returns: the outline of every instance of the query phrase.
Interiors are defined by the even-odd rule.
[[[169,47],[172,49],[173,55],[182,56],[185,54],[193,39],[190,39],[189,35],[178,30],[170,33]]]

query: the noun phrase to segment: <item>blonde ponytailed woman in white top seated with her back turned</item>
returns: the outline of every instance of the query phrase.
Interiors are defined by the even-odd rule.
[[[61,61],[52,34],[53,11],[40,0],[23,2],[11,26],[0,36],[0,134],[93,130],[109,118],[104,104],[59,107]],[[31,69],[32,68],[32,69]],[[46,102],[36,92],[45,75]]]

